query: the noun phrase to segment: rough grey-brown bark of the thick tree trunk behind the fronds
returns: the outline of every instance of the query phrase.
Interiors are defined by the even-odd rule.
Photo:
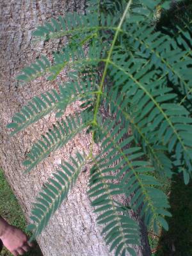
[[[38,136],[51,127],[50,120],[54,116],[46,116],[42,121],[32,125],[17,136],[10,138],[6,124],[11,121],[13,113],[19,111],[34,95],[49,90],[57,83],[49,83],[45,79],[37,79],[33,83],[19,86],[15,76],[19,70],[33,61],[40,53],[51,52],[54,44],[34,45],[31,42],[31,32],[43,20],[52,16],[63,15],[68,11],[84,12],[84,0],[0,0],[0,166],[3,168],[8,182],[19,199],[22,209],[29,219],[31,203],[38,194],[42,184],[62,159],[67,159],[76,150],[88,150],[89,137],[76,136],[67,149],[52,154],[44,163],[29,175],[23,175],[22,160],[24,154]],[[65,76],[64,76],[65,78]],[[61,77],[58,77],[58,81]],[[78,104],[67,109],[74,113]],[[44,256],[108,256],[108,247],[100,236],[100,227],[90,207],[86,194],[88,172],[81,173],[76,187],[68,196],[59,211],[53,216],[49,227],[38,238],[38,243]],[[138,217],[135,216],[137,219]],[[137,247],[137,255],[150,255],[148,239],[143,229],[142,246]]]

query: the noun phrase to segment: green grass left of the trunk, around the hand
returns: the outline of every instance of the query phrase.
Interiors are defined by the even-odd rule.
[[[17,228],[20,228],[25,232],[26,228],[26,220],[24,218],[24,214],[22,213],[22,209],[17,202],[17,198],[12,192],[12,189],[8,185],[6,181],[3,171],[0,170],[0,215],[5,218],[10,224],[14,225]],[[28,236],[31,234],[26,232]],[[12,254],[3,248],[1,251],[1,256],[11,256]],[[38,248],[37,244],[35,248],[33,248],[30,252],[24,254],[25,256],[42,256],[40,252],[40,248]]]

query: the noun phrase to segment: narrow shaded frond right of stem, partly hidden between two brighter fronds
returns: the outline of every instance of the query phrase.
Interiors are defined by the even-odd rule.
[[[122,79],[122,77],[120,77]],[[129,102],[129,95],[134,94],[134,90],[124,93],[124,90],[119,93],[118,88],[115,90],[104,93],[106,99],[106,106],[109,106],[111,114],[116,115],[117,119],[120,119],[122,124],[127,124],[127,130],[131,127],[132,134],[134,134],[134,140],[136,143],[141,143],[143,152],[147,154],[151,163],[155,166],[159,175],[172,176],[172,161],[166,156],[167,148],[163,145],[154,146],[153,141],[150,140],[150,136],[145,132],[145,129],[141,129],[137,120],[129,114],[129,108],[131,108]],[[126,101],[126,100],[128,101]]]

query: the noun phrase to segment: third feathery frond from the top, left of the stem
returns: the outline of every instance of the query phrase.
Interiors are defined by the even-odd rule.
[[[84,83],[69,82],[60,86],[60,92],[52,90],[42,93],[41,97],[34,97],[22,107],[19,113],[15,113],[7,127],[12,129],[11,135],[16,134],[29,125],[37,122],[52,111],[57,112],[56,116],[61,116],[67,106],[76,100],[92,100],[92,90],[95,84],[88,79]]]

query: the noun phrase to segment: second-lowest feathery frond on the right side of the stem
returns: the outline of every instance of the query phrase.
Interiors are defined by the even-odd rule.
[[[118,172],[116,177],[113,175],[111,178],[106,176],[106,179],[121,179],[118,193],[125,193],[126,196],[134,196],[131,200],[131,207],[134,211],[137,211],[141,207],[141,217],[145,216],[146,225],[150,225],[151,221],[154,226],[157,223],[161,223],[164,228],[167,229],[168,225],[163,215],[170,213],[166,211],[169,208],[168,199],[164,195],[163,191],[156,186],[161,184],[154,178],[154,168],[150,166],[148,161],[140,160],[143,157],[140,147],[127,148],[131,145],[133,136],[127,138],[126,129],[122,129],[121,124],[115,125],[115,122],[106,120],[103,127],[108,127],[108,131],[100,127],[102,136],[104,136],[102,142],[102,157],[99,155],[99,166],[103,173],[111,172],[109,166],[116,166],[112,168],[113,172]],[[113,191],[115,195],[115,191]]]

